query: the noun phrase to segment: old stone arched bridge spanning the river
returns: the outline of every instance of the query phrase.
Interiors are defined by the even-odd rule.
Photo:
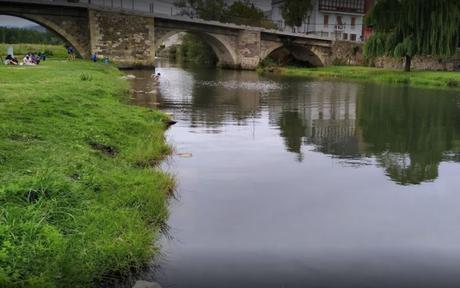
[[[128,7],[85,1],[0,0],[0,14],[34,21],[59,34],[83,57],[98,53],[122,67],[153,66],[156,48],[183,31],[205,40],[224,67],[255,69],[261,60],[283,47],[315,66],[331,62],[331,40],[320,37],[126,9],[135,3],[133,0],[125,0]]]

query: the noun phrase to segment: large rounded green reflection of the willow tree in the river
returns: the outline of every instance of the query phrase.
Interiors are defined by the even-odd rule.
[[[399,184],[435,180],[458,132],[455,96],[382,86],[369,86],[366,92],[360,97],[359,116],[369,152],[378,155]]]

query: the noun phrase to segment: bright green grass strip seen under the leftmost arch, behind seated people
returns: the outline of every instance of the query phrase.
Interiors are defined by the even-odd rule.
[[[64,45],[0,43],[0,55],[3,58],[6,56],[8,47],[13,47],[15,56],[23,56],[29,52],[45,52],[46,55],[50,58],[67,58],[67,49],[64,47]]]

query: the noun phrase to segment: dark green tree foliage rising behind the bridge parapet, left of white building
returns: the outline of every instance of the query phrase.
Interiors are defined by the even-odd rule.
[[[276,27],[249,0],[238,0],[230,6],[223,0],[178,0],[174,5],[181,9],[182,15],[190,17],[268,29]]]

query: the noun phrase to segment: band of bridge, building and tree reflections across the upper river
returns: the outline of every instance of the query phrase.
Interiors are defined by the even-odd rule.
[[[163,74],[167,78],[157,87],[149,71],[138,73],[137,104],[161,105],[204,133],[263,121],[266,110],[298,161],[305,146],[337,158],[375,156],[393,181],[408,185],[433,181],[443,159],[458,160],[452,156],[460,151],[459,97],[453,92],[212,69],[171,67]]]

